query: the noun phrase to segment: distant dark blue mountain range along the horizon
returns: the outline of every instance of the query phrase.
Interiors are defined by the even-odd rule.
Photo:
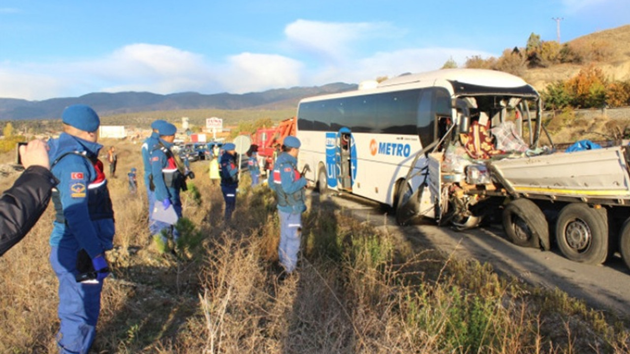
[[[66,106],[82,103],[100,115],[134,113],[140,111],[169,111],[189,109],[270,109],[294,108],[301,98],[318,94],[338,93],[357,89],[357,84],[332,83],[323,86],[270,89],[259,93],[195,92],[155,94],[149,92],[89,93],[79,97],[51,98],[28,101],[0,98],[0,120],[33,120],[59,118]]]

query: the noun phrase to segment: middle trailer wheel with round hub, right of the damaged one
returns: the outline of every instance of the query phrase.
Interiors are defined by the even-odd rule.
[[[556,241],[566,258],[593,265],[604,263],[608,256],[608,224],[605,210],[600,210],[570,203],[560,211]]]

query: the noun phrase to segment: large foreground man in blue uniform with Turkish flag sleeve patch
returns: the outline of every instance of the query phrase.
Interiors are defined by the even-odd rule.
[[[50,264],[59,280],[60,353],[88,353],[96,334],[105,251],[112,249],[112,200],[98,152],[100,119],[86,105],[62,113],[64,132],[49,141],[50,170],[59,180],[52,200]]]

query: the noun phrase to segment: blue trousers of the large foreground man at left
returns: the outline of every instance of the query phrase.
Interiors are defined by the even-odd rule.
[[[77,283],[79,249],[52,247],[50,265],[59,280],[60,328],[57,345],[61,354],[86,354],[96,335],[103,283]]]

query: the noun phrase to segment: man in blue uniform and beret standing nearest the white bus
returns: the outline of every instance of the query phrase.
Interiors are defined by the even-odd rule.
[[[276,160],[269,188],[275,191],[280,219],[280,245],[278,258],[287,274],[297,266],[297,253],[302,234],[302,213],[306,211],[304,189],[308,182],[297,171],[297,154],[301,143],[297,137],[289,135],[282,144],[282,154]]]

